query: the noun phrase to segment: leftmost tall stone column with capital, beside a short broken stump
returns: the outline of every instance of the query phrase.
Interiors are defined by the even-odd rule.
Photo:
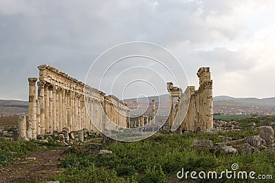
[[[36,87],[35,83],[37,78],[28,78],[29,81],[29,120],[28,120],[28,131],[27,138],[32,138],[32,122],[36,122]]]

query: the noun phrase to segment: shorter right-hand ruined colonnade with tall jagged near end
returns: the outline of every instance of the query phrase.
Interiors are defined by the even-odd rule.
[[[173,83],[167,83],[167,89],[171,98],[171,111],[169,116],[169,125],[173,122],[181,123],[178,131],[207,131],[213,127],[213,99],[212,99],[212,80],[210,78],[210,68],[201,67],[197,72],[199,77],[199,89],[195,86],[188,86],[183,93],[181,88],[174,87]],[[179,103],[175,105],[173,98],[178,97]],[[188,103],[184,98],[190,98]],[[188,108],[186,108],[186,104]],[[185,118],[184,111],[186,111]],[[175,116],[178,114],[177,118]]]

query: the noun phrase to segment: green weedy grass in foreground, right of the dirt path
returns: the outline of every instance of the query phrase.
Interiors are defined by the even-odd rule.
[[[221,142],[220,135],[234,139],[256,135],[257,131],[245,130],[234,133],[194,134],[186,133],[161,134],[140,142],[118,142],[105,149],[113,151],[112,155],[85,153],[82,149],[72,147],[67,150],[70,156],[61,162],[65,170],[54,177],[60,182],[168,182],[169,177],[176,177],[177,172],[184,171],[225,171],[231,170],[233,163],[239,164],[240,171],[255,171],[259,174],[275,172],[274,151],[259,153],[237,153],[229,155],[223,152],[210,153],[208,148],[191,148],[195,139]],[[249,157],[249,158],[248,158]],[[215,182],[198,180],[198,182]],[[234,180],[235,182],[253,182],[253,180]],[[217,182],[232,182],[219,180]],[[267,180],[268,182],[268,180]],[[271,181],[270,181],[271,182]]]

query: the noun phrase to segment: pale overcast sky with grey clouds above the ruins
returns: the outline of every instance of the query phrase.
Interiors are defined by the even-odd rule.
[[[274,10],[265,0],[0,0],[0,98],[28,100],[28,77],[44,63],[84,81],[102,52],[129,41],[172,52],[189,85],[198,87],[197,69],[210,67],[214,96],[272,97]]]

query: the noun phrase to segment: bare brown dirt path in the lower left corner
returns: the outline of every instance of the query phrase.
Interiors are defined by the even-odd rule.
[[[32,153],[28,158],[14,160],[9,166],[0,169],[0,182],[47,182],[61,169],[58,163],[64,159],[63,152],[67,147],[57,147],[46,151]]]

